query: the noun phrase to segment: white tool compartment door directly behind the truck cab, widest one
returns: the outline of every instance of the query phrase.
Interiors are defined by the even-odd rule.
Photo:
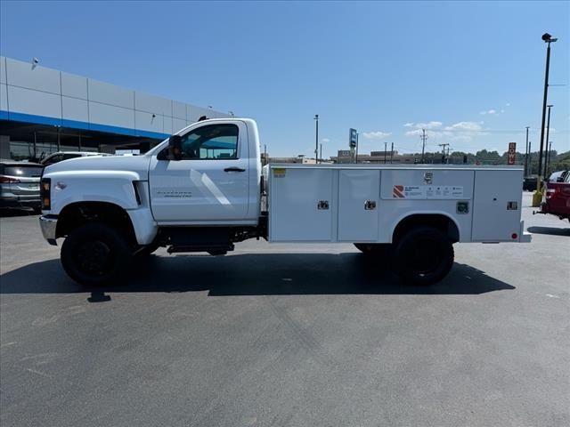
[[[330,241],[333,171],[272,167],[269,173],[269,240]]]

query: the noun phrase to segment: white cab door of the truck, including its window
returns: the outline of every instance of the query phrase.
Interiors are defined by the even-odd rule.
[[[248,133],[241,122],[201,125],[182,135],[183,157],[151,159],[151,209],[158,222],[240,221],[248,214]]]

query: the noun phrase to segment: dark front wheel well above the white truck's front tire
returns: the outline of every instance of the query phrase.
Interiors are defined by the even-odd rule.
[[[87,222],[102,222],[123,230],[130,241],[136,242],[133,223],[126,210],[108,202],[77,202],[65,206],[58,215],[55,235],[57,238],[66,237]]]

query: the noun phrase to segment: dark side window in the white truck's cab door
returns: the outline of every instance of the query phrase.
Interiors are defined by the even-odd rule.
[[[238,158],[238,126],[207,125],[182,137],[183,160]]]

